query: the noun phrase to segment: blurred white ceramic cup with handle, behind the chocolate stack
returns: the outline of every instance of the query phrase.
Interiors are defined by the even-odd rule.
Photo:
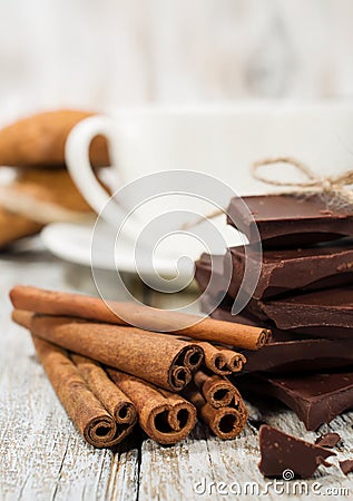
[[[192,169],[216,176],[241,195],[256,194],[274,189],[249,174],[249,166],[262,158],[295,157],[317,176],[353,164],[353,106],[346,102],[121,108],[112,116],[82,120],[66,145],[70,175],[97,213],[109,197],[89,163],[96,135],[108,139],[117,189],[151,173]],[[274,178],[301,178],[294,169],[271,168]],[[105,210],[109,224],[122,210],[120,202]],[[155,214],[164,209],[163,202],[154,207]]]

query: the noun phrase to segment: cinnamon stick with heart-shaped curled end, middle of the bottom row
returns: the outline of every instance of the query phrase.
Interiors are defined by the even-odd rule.
[[[194,429],[196,409],[182,396],[112,369],[108,374],[134,402],[139,424],[150,439],[173,444]]]

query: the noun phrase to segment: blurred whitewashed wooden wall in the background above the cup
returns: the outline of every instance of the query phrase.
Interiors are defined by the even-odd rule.
[[[352,0],[0,0],[0,120],[353,95]]]

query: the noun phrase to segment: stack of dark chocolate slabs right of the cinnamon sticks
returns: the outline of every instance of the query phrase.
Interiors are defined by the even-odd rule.
[[[207,288],[202,307],[213,310],[215,318],[272,328],[269,344],[244,352],[246,374],[237,384],[248,399],[261,393],[282,400],[307,430],[316,430],[353,409],[353,213],[346,206],[332,208],[320,195],[244,202],[249,213],[233,199],[228,223],[249,242],[258,232],[258,283],[246,291],[245,259],[256,266],[258,256],[244,246],[231,247],[225,256],[203,255],[196,263],[196,279]],[[241,289],[252,298],[232,315]]]

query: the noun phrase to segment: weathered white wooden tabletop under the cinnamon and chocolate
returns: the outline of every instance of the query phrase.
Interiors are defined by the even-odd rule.
[[[326,488],[347,489],[336,499],[352,499],[353,474],[344,477],[337,468],[337,459],[353,458],[353,412],[320,430],[337,431],[343,444],[337,448],[337,459],[332,460],[334,466],[327,470],[321,466],[313,480],[302,482],[308,490],[307,495],[302,497],[276,493],[273,487],[263,495],[249,495],[251,491],[245,491],[246,482],[255,482],[254,492],[265,489],[267,482],[257,468],[261,422],[310,441],[318,435],[306,432],[297,418],[280,404],[268,405],[266,412],[248,405],[249,423],[233,441],[223,442],[198,424],[187,440],[169,448],[137,432],[114,452],[95,450],[85,443],[67,418],[36,360],[29,335],[11,323],[8,299],[9,289],[17,283],[94,292],[90,271],[37,250],[1,254],[0,276],[0,499],[317,500],[327,499],[327,495],[317,495],[317,489],[324,494]],[[150,304],[166,304],[163,296],[143,287],[139,291]],[[168,301],[174,304],[185,301],[185,295],[169,296]],[[313,483],[316,493],[311,491]],[[284,482],[284,492],[293,492],[292,488],[293,482]],[[239,489],[243,493],[236,494]]]

